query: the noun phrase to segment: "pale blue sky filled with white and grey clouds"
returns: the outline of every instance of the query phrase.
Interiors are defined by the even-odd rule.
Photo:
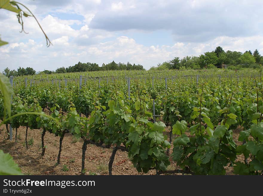
[[[263,55],[261,0],[19,0],[34,13],[24,19],[0,9],[0,71],[36,71],[77,62],[121,62],[149,69],[175,57],[255,49]]]

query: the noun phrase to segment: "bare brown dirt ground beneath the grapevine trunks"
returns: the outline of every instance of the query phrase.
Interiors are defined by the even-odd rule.
[[[77,140],[71,134],[65,134],[62,143],[62,152],[60,164],[56,165],[57,154],[59,151],[59,137],[46,132],[44,140],[46,151],[45,155],[41,156],[41,134],[42,129],[28,129],[27,142],[29,148],[25,147],[25,127],[18,129],[18,139],[15,144],[15,130],[13,130],[13,141],[7,140],[7,132],[5,126],[0,128],[0,149],[5,153],[10,153],[15,162],[22,169],[24,174],[28,175],[79,175],[81,173],[81,157],[82,157],[82,139]],[[233,137],[238,145],[239,129],[234,131]],[[166,130],[169,135],[169,128]],[[87,145],[85,156],[86,175],[107,175],[108,161],[111,156],[112,148],[101,148],[93,144]],[[170,154],[172,150],[170,149]],[[171,160],[171,159],[170,159]],[[243,156],[238,156],[237,160],[244,162]],[[176,163],[171,161],[169,170],[178,169]],[[128,153],[118,150],[113,167],[113,175],[143,175],[137,172],[133,167],[132,162],[128,158]],[[155,170],[149,171],[146,175],[156,174]],[[233,175],[233,168],[226,167],[226,174]],[[180,175],[180,174],[178,174]]]

